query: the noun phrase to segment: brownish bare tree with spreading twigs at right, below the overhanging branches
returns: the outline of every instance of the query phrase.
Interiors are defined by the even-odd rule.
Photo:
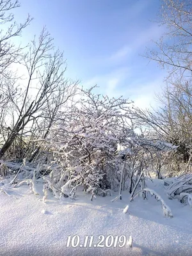
[[[191,88],[188,84],[175,84],[164,89],[161,96],[162,106],[158,109],[132,109],[132,122],[138,127],[147,129],[148,136],[154,140],[163,140],[172,143],[177,150],[168,154],[165,163],[171,164],[172,173],[175,170],[188,170],[191,162]],[[158,157],[158,161],[162,161]],[[183,163],[186,163],[183,165]],[[160,162],[159,162],[160,164]],[[158,166],[158,164],[157,164]],[[159,168],[159,167],[158,167]]]

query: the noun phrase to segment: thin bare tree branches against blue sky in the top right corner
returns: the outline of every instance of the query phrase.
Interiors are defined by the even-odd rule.
[[[159,24],[165,33],[149,50],[147,58],[168,68],[169,74],[191,76],[192,3],[190,0],[161,0]]]

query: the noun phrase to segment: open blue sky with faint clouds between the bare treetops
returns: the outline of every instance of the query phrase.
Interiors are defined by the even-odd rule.
[[[164,72],[139,54],[152,47],[163,28],[156,19],[159,0],[20,0],[19,22],[34,17],[24,30],[28,42],[46,26],[54,44],[65,52],[67,76],[99,92],[134,100],[145,108],[157,104]]]

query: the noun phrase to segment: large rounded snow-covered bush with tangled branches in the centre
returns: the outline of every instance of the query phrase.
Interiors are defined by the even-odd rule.
[[[60,113],[47,145],[54,157],[52,185],[68,195],[81,185],[93,198],[118,187],[123,163],[118,146],[128,145],[134,132],[127,123],[127,100],[84,93],[79,106]]]

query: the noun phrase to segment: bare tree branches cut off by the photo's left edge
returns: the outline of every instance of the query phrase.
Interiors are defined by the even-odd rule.
[[[24,49],[20,45],[15,45],[13,40],[20,36],[22,29],[29,25],[31,18],[28,16],[22,24],[17,24],[14,20],[12,11],[19,8],[19,1],[1,0],[0,1],[0,142],[1,144],[8,136],[9,127],[6,125],[6,116],[10,111],[11,98],[17,95],[17,87],[6,84],[13,84],[17,81],[16,74],[13,72],[13,63],[18,63]]]

